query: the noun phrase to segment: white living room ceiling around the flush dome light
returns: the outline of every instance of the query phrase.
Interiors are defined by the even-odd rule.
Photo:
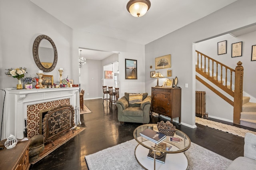
[[[30,1],[73,29],[147,44],[236,0],[150,0],[139,18],[126,10],[129,0]]]

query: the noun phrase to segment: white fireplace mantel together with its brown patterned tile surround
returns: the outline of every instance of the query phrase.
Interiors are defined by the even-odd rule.
[[[27,119],[28,138],[40,134],[42,112],[62,104],[72,105],[77,110],[74,115],[76,125],[80,124],[79,87],[49,88],[49,89],[5,89],[6,102],[2,126],[2,139],[13,134],[16,138],[24,138]]]

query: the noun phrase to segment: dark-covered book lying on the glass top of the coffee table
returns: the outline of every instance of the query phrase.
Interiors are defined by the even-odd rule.
[[[151,140],[152,142],[155,142],[156,144],[159,144],[164,139],[166,139],[166,136],[160,132],[156,132],[152,129],[146,128],[142,132],[140,132],[140,136],[143,136],[144,138],[147,138],[148,140]]]

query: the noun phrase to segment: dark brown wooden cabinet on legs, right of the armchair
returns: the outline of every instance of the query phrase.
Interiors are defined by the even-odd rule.
[[[152,87],[151,111],[171,118],[179,117],[181,122],[181,88]]]

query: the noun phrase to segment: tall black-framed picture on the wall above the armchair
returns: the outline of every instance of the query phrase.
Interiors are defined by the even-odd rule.
[[[137,60],[125,59],[125,79],[137,79]]]

